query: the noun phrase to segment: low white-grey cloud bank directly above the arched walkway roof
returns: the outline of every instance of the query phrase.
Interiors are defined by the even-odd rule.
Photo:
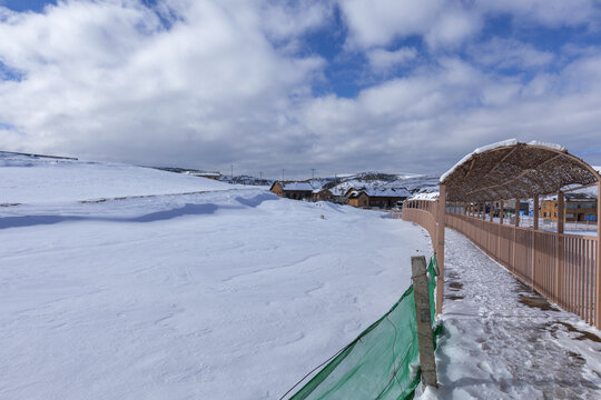
[[[442,172],[474,148],[510,137],[558,142],[578,153],[599,134],[599,71],[601,56],[521,82],[446,58],[356,99],[308,101],[298,119],[321,132],[318,159],[352,160],[357,170],[377,162],[388,171]]]

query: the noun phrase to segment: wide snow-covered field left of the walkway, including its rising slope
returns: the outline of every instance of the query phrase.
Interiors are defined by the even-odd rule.
[[[431,251],[375,211],[120,164],[0,163],[0,203],[19,203],[0,207],[1,399],[277,399]]]

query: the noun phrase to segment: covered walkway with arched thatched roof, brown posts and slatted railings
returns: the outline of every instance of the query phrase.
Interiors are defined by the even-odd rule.
[[[601,176],[583,160],[558,144],[491,144],[464,157],[440,180],[436,202],[411,201],[403,219],[428,230],[441,268],[436,310],[442,311],[444,227],[465,234],[518,279],[601,329],[601,240],[564,233],[564,193],[595,186],[601,197]],[[556,231],[539,229],[539,199],[556,194],[561,213]],[[519,213],[508,224],[503,211],[493,218],[494,202],[533,201],[532,228],[520,227]],[[444,207],[441,207],[444,204]],[[474,207],[475,206],[475,207]],[[601,202],[597,202],[601,216]],[[518,208],[518,207],[516,207]],[[489,210],[489,211],[486,211]]]

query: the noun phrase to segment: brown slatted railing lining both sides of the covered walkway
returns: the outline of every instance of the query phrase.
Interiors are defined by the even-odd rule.
[[[405,202],[403,219],[425,228],[433,243],[437,202]],[[445,226],[464,234],[486,254],[564,310],[600,328],[595,321],[599,274],[597,237],[545,232],[501,224],[446,208]]]

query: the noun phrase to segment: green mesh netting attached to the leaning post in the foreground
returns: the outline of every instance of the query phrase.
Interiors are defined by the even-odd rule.
[[[434,321],[436,258],[427,267]],[[290,399],[410,399],[420,383],[413,286]]]

